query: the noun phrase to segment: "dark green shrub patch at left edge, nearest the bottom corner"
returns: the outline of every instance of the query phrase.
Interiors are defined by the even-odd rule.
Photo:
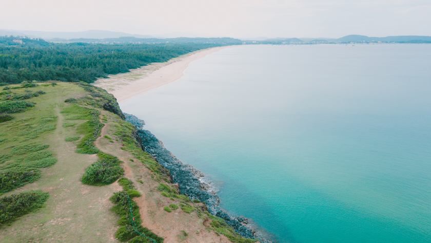
[[[46,192],[31,191],[0,198],[0,226],[42,208],[48,197]]]

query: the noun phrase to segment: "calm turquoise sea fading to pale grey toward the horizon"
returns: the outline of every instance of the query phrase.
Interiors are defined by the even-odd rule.
[[[431,242],[431,45],[236,46],[120,103],[279,242]]]

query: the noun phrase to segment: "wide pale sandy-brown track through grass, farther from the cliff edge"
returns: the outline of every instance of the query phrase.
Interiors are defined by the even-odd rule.
[[[116,184],[89,186],[80,181],[85,168],[97,157],[77,154],[76,145],[65,142],[66,137],[76,133],[73,127],[63,127],[60,105],[63,104],[54,107],[58,122],[47,141],[57,163],[42,169],[38,181],[8,193],[49,192],[46,207],[0,229],[0,242],[117,242],[114,239],[117,216],[109,210],[112,203],[108,199],[121,188]]]

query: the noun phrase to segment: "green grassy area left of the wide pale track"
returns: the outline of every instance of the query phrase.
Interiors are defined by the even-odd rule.
[[[44,142],[57,123],[51,105],[56,94],[52,87],[38,86],[43,90],[32,90],[36,86],[25,84],[0,94],[0,109],[3,112],[0,117],[16,113],[13,120],[8,118],[0,123],[3,132],[0,136],[0,193],[36,181],[41,177],[38,169],[57,161],[52,152],[45,150],[49,145]],[[27,98],[30,101],[17,100]],[[33,108],[27,109],[29,107]]]

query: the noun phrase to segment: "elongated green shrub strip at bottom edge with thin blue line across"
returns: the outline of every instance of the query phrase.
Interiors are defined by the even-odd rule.
[[[133,182],[131,180],[121,178],[119,183],[120,185],[123,185],[124,190],[134,190]],[[162,243],[164,240],[162,237],[157,236],[149,229],[141,226],[142,219],[139,213],[138,204],[131,200],[134,196],[128,195],[127,191],[114,193],[110,198],[111,202],[115,204],[112,211],[121,217],[118,221],[118,225],[121,227],[115,233],[115,238],[120,241],[130,240],[129,242],[135,243],[152,243],[153,241],[147,238],[149,237],[157,243]]]

